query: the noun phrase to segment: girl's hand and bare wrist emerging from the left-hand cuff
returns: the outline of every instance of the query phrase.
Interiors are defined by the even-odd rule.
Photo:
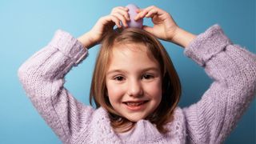
[[[82,42],[87,49],[90,49],[90,47],[100,43],[104,34],[109,30],[113,30],[114,26],[118,26],[118,28],[127,27],[127,21],[130,21],[128,8],[123,6],[114,7],[109,15],[99,18],[94,27],[79,37],[78,41]]]

